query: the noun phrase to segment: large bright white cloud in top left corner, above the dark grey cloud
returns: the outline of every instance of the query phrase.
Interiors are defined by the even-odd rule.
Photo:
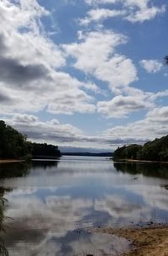
[[[61,67],[66,60],[58,47],[40,33],[39,20],[48,14],[35,0],[0,3],[1,38],[6,46],[3,56],[17,59],[24,65],[40,64]]]

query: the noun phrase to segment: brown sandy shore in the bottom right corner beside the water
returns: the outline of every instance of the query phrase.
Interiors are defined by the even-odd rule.
[[[130,240],[133,249],[122,256],[168,256],[168,226],[141,228],[97,228],[96,232]]]

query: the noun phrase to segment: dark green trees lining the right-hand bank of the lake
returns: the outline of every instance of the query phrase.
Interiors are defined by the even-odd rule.
[[[113,159],[168,161],[168,136],[148,141],[144,146],[132,144],[118,147],[113,153]]]

